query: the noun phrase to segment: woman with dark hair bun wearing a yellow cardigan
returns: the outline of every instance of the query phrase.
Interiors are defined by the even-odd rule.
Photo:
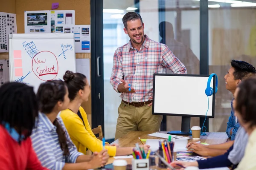
[[[88,101],[90,95],[87,78],[81,73],[66,71],[63,79],[69,91],[70,104],[68,109],[61,111],[60,116],[71,140],[81,153],[86,154],[87,148],[92,152],[101,151],[103,149],[102,141],[93,134],[87,115],[81,107],[81,103]],[[143,147],[147,152],[150,146],[144,145]],[[129,155],[133,152],[133,147],[118,147],[109,144],[106,144],[105,149],[108,150],[109,156]]]

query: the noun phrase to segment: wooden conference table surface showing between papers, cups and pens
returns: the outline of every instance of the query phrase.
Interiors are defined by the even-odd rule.
[[[157,137],[152,137],[148,136],[148,134],[155,133],[156,131],[131,131],[127,133],[125,136],[122,138],[119,138],[112,142],[111,144],[119,144],[119,147],[135,147],[136,143],[141,144],[140,139],[163,139],[163,138],[157,138]],[[167,132],[160,132],[160,133],[167,133]],[[200,141],[202,143],[207,143],[207,144],[221,144],[224,142],[227,142],[230,140],[225,132],[209,132],[206,133],[206,136],[200,136],[200,140],[193,140],[192,137],[191,139],[188,139],[188,142],[197,142]],[[186,136],[189,137],[189,136]],[[144,142],[145,143],[145,142]],[[107,164],[113,163],[115,159],[113,157],[110,157],[108,159]],[[128,164],[131,164],[131,158],[125,159]]]

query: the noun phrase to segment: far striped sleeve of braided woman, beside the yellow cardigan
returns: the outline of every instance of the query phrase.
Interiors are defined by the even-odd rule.
[[[69,156],[67,157],[66,162],[67,163],[76,163],[77,157],[80,156],[80,155],[84,155],[84,154],[77,151],[76,145],[70,139],[70,136],[67,133],[67,129],[66,129],[66,127],[64,125],[64,122],[61,119],[61,117],[58,116],[57,119],[58,119],[58,122],[60,123],[61,127],[63,128],[63,130],[65,132],[65,136],[66,136],[66,139],[67,139],[67,147],[68,147],[68,150],[70,152]]]

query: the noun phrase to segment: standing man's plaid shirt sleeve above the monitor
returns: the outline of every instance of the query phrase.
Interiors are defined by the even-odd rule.
[[[182,62],[164,45],[162,51],[162,65],[171,70],[174,74],[187,74],[187,70]]]

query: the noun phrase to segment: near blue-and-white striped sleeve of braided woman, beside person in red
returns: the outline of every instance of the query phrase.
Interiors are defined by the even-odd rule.
[[[48,144],[46,144],[44,138],[45,133],[42,129],[34,129],[34,132],[31,135],[31,139],[33,148],[38,156],[38,159],[41,161],[41,164],[44,167],[47,167],[50,170],[62,170],[65,162],[56,160],[56,157],[52,152],[54,148],[51,148]]]

